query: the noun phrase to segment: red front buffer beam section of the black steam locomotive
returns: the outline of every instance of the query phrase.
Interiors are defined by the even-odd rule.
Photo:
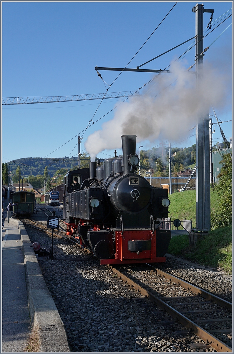
[[[170,230],[111,228],[115,236],[115,258],[102,259],[101,264],[165,262],[171,239]]]

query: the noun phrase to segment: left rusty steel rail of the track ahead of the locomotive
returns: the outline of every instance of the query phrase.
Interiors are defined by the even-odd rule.
[[[160,298],[153,295],[150,291],[144,289],[144,287],[137,284],[131,278],[128,278],[124,273],[120,272],[120,270],[112,267],[112,265],[107,265],[110,269],[113,270],[115,274],[119,276],[119,278],[125,280],[128,284],[130,284],[134,289],[148,298],[151,302],[155,303],[157,306],[166,310],[166,312],[172,316],[176,321],[179,321],[183,326],[187,329],[190,329],[195,335],[202,338],[206,344],[209,344],[212,348],[214,348],[217,352],[228,352],[232,353],[232,348],[227,346],[225,343],[220,341],[218,338],[212,336],[209,332],[204,330],[202,327],[198,326],[196,323],[188,319],[186,316],[182,315],[180,312],[175,310],[173,307],[168,305],[166,302],[162,301]],[[178,278],[179,279],[179,278]]]

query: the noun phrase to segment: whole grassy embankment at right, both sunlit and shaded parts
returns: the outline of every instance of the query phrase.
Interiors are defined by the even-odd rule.
[[[219,197],[211,192],[211,213],[218,210]],[[196,227],[196,192],[194,190],[173,193],[170,198],[170,216],[172,219],[192,219]],[[196,247],[188,246],[188,236],[180,235],[172,238],[168,253],[190,259],[210,267],[223,268],[232,272],[232,227],[212,230],[208,236],[198,241]]]

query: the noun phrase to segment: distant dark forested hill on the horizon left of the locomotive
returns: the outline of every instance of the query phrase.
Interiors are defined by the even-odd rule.
[[[10,171],[12,171],[11,175],[13,175],[16,172],[17,167],[20,166],[21,175],[23,176],[43,175],[44,169],[47,166],[48,174],[52,177],[54,176],[55,171],[59,169],[73,170],[74,167],[78,165],[78,158],[73,156],[71,158],[66,156],[64,158],[28,157],[7,162],[7,165],[10,166]]]

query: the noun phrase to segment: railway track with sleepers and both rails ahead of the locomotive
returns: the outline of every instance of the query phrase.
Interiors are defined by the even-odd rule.
[[[124,286],[134,287],[145,298],[172,316],[172,320],[162,321],[162,325],[173,326],[180,322],[189,332],[203,339],[204,348],[212,347],[217,352],[232,352],[230,346],[214,336],[232,332],[232,303],[149,266],[155,271],[153,276],[128,274],[108,265],[123,281]],[[159,312],[155,314],[158,315]],[[178,331],[175,334],[185,335],[188,331]]]

